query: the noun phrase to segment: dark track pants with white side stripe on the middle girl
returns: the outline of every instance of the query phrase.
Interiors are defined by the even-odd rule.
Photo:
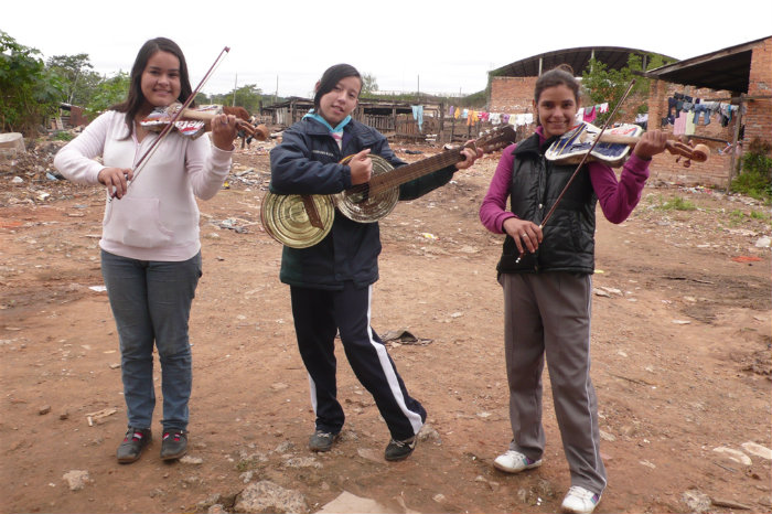
[[[369,324],[373,286],[356,288],[345,282],[342,290],[292,286],[290,295],[298,347],[309,373],[317,429],[337,433],[345,420],[335,378],[334,346],[340,332],[349,363],[373,395],[392,437],[405,440],[418,433],[426,410],[408,395],[386,346]]]

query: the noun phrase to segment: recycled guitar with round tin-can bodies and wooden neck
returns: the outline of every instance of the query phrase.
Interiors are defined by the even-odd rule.
[[[463,147],[404,167],[394,168],[379,156],[373,160],[369,182],[332,195],[276,194],[262,199],[260,221],[266,232],[279,243],[292,248],[308,248],[324,239],[332,229],[335,207],[350,219],[375,223],[387,216],[399,201],[399,186],[411,180],[461,162],[463,148],[482,149],[483,153],[505,148],[515,141],[512,126],[483,133]],[[353,156],[344,158],[345,164]]]

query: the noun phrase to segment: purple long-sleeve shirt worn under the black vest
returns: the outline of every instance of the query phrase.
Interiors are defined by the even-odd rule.
[[[536,129],[539,136],[539,144],[544,144],[542,127]],[[480,206],[480,221],[483,226],[495,234],[504,233],[504,221],[515,215],[506,210],[506,201],[510,197],[512,184],[512,171],[516,144],[507,147],[502,152],[498,165],[491,180],[487,194]],[[651,161],[630,156],[622,168],[622,175],[616,180],[614,171],[601,162],[587,164],[590,173],[592,189],[596,191],[603,215],[611,223],[622,223],[630,216],[633,208],[641,201],[641,191],[648,179],[648,163]]]

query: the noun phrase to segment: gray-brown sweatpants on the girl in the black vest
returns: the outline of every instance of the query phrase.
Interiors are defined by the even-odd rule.
[[[570,272],[504,274],[504,344],[511,449],[538,460],[545,445],[545,355],[571,485],[602,493],[598,400],[590,381],[592,278]]]

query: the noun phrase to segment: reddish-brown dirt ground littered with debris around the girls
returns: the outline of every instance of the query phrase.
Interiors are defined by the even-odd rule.
[[[248,482],[268,480],[302,494],[309,512],[343,491],[394,513],[557,512],[570,484],[547,379],[544,465],[491,467],[511,439],[502,238],[478,208],[498,154],[382,222],[373,326],[418,339],[388,345],[429,413],[412,457],[387,463],[386,426],[340,347],[344,437],[325,454],[307,449],[313,414],[281,245],[259,222],[269,148],[239,150],[226,189],[201,203],[191,459],[171,464],[159,459],[158,422],[140,461],[115,460],[126,416],[99,290],[101,189],[46,178],[42,150],[40,162],[0,168],[0,511],[230,511]],[[410,148],[422,153],[400,157],[439,151]],[[678,202],[696,208],[667,208]],[[625,223],[599,211],[592,378],[609,486],[596,512],[772,510],[771,259],[755,245],[771,232],[768,206],[666,184],[656,169]],[[67,480],[74,471],[87,472],[82,485]]]

